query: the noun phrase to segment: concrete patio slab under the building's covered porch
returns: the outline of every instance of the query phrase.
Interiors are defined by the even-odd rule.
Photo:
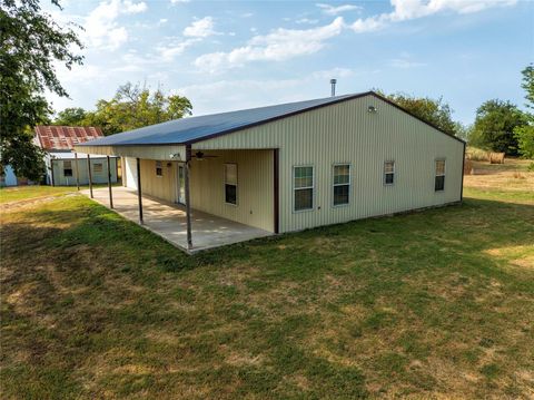
[[[109,207],[107,187],[93,188],[93,199]],[[81,191],[89,196],[89,191]],[[113,186],[113,211],[139,224],[137,192],[122,186]],[[270,236],[273,233],[211,214],[194,209],[191,213],[192,248],[187,248],[185,207],[142,196],[144,224],[140,225],[164,237],[187,253],[214,248],[233,243]]]

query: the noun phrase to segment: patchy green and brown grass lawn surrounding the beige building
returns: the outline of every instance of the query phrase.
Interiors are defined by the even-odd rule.
[[[195,256],[83,196],[7,208],[0,397],[533,398],[534,195],[465,195]]]

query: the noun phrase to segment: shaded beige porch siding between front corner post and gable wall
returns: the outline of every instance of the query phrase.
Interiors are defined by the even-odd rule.
[[[206,213],[274,232],[273,150],[205,152],[191,160],[191,205]],[[225,164],[237,164],[237,205],[225,203]]]

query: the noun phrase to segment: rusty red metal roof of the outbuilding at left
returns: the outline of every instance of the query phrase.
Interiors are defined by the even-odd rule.
[[[36,135],[46,150],[69,150],[79,143],[103,137],[100,128],[92,126],[36,126]]]

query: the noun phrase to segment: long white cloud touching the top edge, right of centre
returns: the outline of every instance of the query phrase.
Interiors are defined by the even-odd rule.
[[[517,0],[390,0],[392,12],[359,18],[350,28],[355,32],[382,29],[390,22],[400,22],[428,17],[439,12],[473,13],[493,7],[514,6]]]

